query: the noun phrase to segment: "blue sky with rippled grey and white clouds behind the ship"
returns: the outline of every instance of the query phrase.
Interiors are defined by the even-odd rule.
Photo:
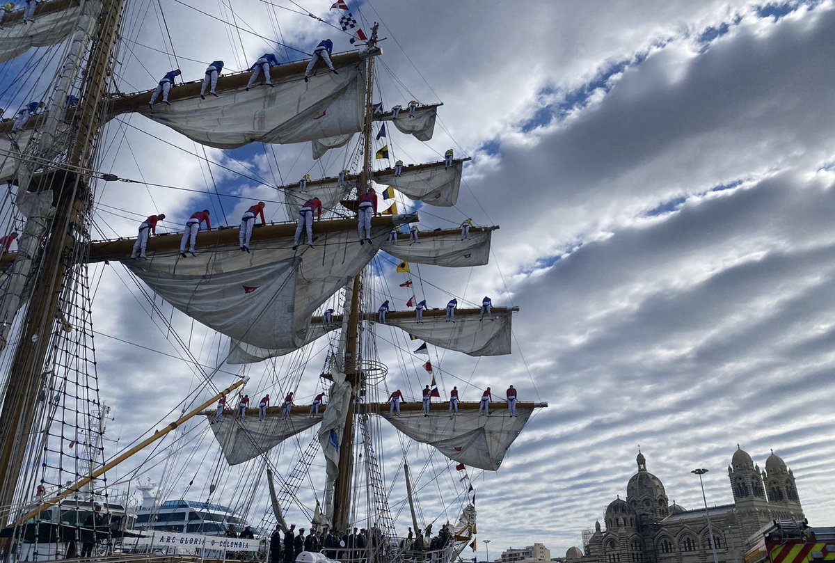
[[[177,66],[197,79],[215,58],[241,70],[265,50],[304,57],[264,38],[306,52],[329,36],[335,51],[350,47],[347,36],[306,16],[335,22],[326,0],[200,7],[234,19],[240,33],[186,4],[195,3],[161,3],[170,38],[157,3],[129,9],[125,29],[135,43],[120,57],[121,89],[149,89]],[[425,162],[453,146],[473,159],[458,205],[424,209],[422,228],[466,217],[501,226],[489,266],[420,272],[431,306],[451,295],[478,302],[488,294],[496,305],[521,309],[511,357],[476,361],[433,350],[443,396],[458,385],[465,399],[475,399],[487,385],[510,382],[521,399],[549,403],[497,473],[476,473],[478,537],[493,542],[491,556],[534,541],[553,556],[580,545],[580,530],[625,495],[638,444],[667,495],[686,508],[701,502],[691,469],[711,469],[708,503],[726,504],[736,444],[761,466],[774,449],[794,470],[812,525],[832,525],[835,3],[349,6],[366,27],[380,22],[386,38],[375,100],[444,104],[428,143],[390,134],[397,158]],[[270,184],[307,172],[335,175],[344,159],[343,152],[314,164],[306,145],[206,149],[213,162],[243,163],[251,177],[265,179],[259,185],[207,167],[190,154],[203,157],[201,147],[141,116],[109,124],[108,138],[115,142],[102,170],[190,190],[212,191],[216,183],[221,193],[267,201],[278,199]],[[99,234],[106,237],[133,236],[154,210],[169,216],[171,231],[207,206],[236,225],[249,205],[124,184],[107,185],[100,201]],[[284,220],[277,205],[267,216]],[[97,267],[101,393],[114,407],[109,435],[124,444],[179,413],[187,393],[205,397],[209,390],[193,364],[159,353],[182,356],[183,347],[170,343],[159,315],[149,313],[141,284],[118,264]],[[397,290],[392,282],[400,279],[389,270],[382,269],[375,291],[402,308],[409,296],[387,290]],[[157,304],[168,318],[170,307]],[[214,365],[220,339],[180,315],[170,320],[190,353]],[[382,341],[395,338],[378,333]],[[312,348],[298,383],[304,396],[314,393],[326,343]],[[428,383],[412,360],[381,355],[391,362],[387,388],[413,397]],[[248,372],[251,394],[278,394],[288,378],[299,379],[286,374],[301,360],[268,364]],[[220,373],[214,382],[225,387],[233,377]],[[188,469],[164,478],[166,495],[205,495],[186,484],[215,471],[206,428],[206,457],[175,464]],[[402,444],[390,440],[386,453],[402,455]],[[280,466],[289,468],[297,453],[284,451]],[[424,450],[408,451],[418,463]],[[149,476],[162,480],[163,469]],[[225,472],[235,483],[238,474]],[[423,502],[424,513],[436,506]],[[483,544],[478,555],[485,555]]]

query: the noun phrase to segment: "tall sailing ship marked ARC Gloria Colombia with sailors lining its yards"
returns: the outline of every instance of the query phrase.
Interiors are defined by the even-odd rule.
[[[456,559],[475,545],[473,477],[498,469],[547,404],[504,401],[504,390],[491,395],[472,375],[441,369],[451,353],[472,357],[473,373],[489,370],[490,358],[512,353],[519,312],[498,298],[493,307],[488,297],[432,285],[433,276],[461,272],[466,287],[472,269],[488,264],[498,229],[462,211],[454,220],[443,215],[458,205],[468,159],[453,150],[438,150],[443,160],[431,162],[394,158],[398,135],[431,143],[443,104],[383,104],[379,84],[392,81],[380,63],[386,38],[342,0],[327,2],[334,12],[331,23],[320,18],[321,33],[341,28],[337,44],[350,39],[353,50],[314,41],[295,57],[285,48],[281,61],[248,54],[256,63],[238,72],[205,61],[205,77],[172,70],[154,77],[153,89],[126,93],[121,65],[141,64],[135,28],[149,10],[160,18],[160,45],[171,41],[165,10],[181,12],[167,4],[48,0],[3,16],[4,92],[7,106],[20,107],[0,124],[0,176],[9,185],[0,213],[3,558],[149,545],[149,522],[126,517],[129,502],[114,498],[156,471],[163,498],[228,509],[261,530],[261,541],[295,524],[316,530],[314,550],[331,558]],[[231,9],[218,18],[202,4],[176,4],[230,33],[246,28]],[[261,7],[265,15],[270,6]],[[154,134],[160,130],[178,144]],[[193,148],[186,156],[206,165],[213,187],[194,190],[202,193],[189,205],[205,212],[172,221],[173,212],[139,214],[105,197],[107,185],[160,196],[190,190],[172,185],[176,172],[165,185],[114,173],[114,146],[129,144],[129,131],[147,133],[160,155]],[[275,151],[301,144],[310,144],[316,178],[267,180],[239,159],[261,154],[281,171]],[[260,153],[235,152],[247,147]],[[137,158],[132,149],[117,152]],[[212,170],[256,186],[230,187]],[[235,210],[219,227],[224,205]],[[264,209],[272,221],[252,219]],[[135,219],[139,236],[109,231],[109,216]],[[156,232],[162,220],[171,231]],[[184,236],[184,223],[191,230],[204,221],[196,242]],[[119,452],[101,440],[97,355],[114,342],[94,331],[93,316],[109,311],[96,299],[105,266],[119,269],[116,279],[133,288],[136,307],[194,375],[170,398],[170,417]],[[126,330],[119,339],[132,338]],[[200,512],[172,502],[184,506],[165,514]],[[204,512],[209,520],[218,513]],[[169,531],[193,534],[186,542],[211,535],[188,522]],[[337,540],[331,550],[329,535]],[[349,535],[364,538],[362,553],[340,549]],[[224,556],[227,548],[249,549],[215,546]]]

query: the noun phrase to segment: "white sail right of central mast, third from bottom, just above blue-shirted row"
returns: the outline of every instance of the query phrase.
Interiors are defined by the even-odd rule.
[[[464,267],[483,266],[490,258],[490,236],[493,227],[470,230],[470,238],[461,240],[461,233],[454,231],[443,236],[424,236],[418,233],[418,241],[409,245],[408,236],[394,244],[386,241],[382,250],[401,260],[433,266]],[[427,233],[432,235],[433,233]]]

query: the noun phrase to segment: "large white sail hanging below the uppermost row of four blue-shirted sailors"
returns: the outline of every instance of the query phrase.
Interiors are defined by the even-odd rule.
[[[308,83],[298,75],[275,88],[237,89],[219,98],[195,96],[172,101],[170,106],[144,107],[139,113],[219,149],[253,142],[301,143],[362,129],[364,74],[365,66],[359,63]]]

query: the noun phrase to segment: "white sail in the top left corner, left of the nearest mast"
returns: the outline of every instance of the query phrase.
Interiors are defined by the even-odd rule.
[[[73,33],[81,8],[72,6],[39,15],[32,23],[18,20],[0,29],[0,63],[26,53],[32,47],[46,47],[61,43]]]

